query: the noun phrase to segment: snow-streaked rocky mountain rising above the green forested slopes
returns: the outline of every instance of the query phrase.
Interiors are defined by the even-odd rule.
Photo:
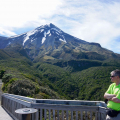
[[[0,49],[20,45],[32,60],[39,59],[104,59],[112,51],[98,43],[89,43],[71,36],[52,23],[9,38],[0,37]],[[84,54],[83,54],[84,53]]]

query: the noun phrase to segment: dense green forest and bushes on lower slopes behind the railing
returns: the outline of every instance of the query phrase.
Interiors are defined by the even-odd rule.
[[[64,49],[69,53],[69,48]],[[120,69],[120,61],[115,58],[32,62],[19,47],[0,53],[2,90],[41,99],[104,100],[111,84],[110,72]]]

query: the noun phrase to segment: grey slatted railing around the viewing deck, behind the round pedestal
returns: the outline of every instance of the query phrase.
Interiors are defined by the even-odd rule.
[[[36,108],[32,120],[105,120],[106,104],[103,101],[34,99],[13,94],[2,94],[2,107],[15,119],[20,108]]]

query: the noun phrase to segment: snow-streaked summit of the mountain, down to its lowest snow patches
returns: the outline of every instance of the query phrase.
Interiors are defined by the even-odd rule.
[[[56,37],[59,37],[60,41],[66,42],[63,31],[61,31],[59,28],[54,26],[53,24],[45,25],[45,26],[40,26],[32,31],[29,31],[27,33],[18,35],[18,36],[13,36],[10,37],[9,39],[10,42],[14,42],[16,39],[19,41],[19,39],[22,39],[22,44],[25,46],[28,42],[29,43],[34,43],[37,41],[39,45],[41,46],[44,44],[44,42],[48,39],[51,38],[52,35],[55,35]]]

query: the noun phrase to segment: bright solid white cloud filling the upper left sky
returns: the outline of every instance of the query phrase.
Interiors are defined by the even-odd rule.
[[[0,0],[0,26],[24,27],[29,21],[50,17],[60,0]]]

